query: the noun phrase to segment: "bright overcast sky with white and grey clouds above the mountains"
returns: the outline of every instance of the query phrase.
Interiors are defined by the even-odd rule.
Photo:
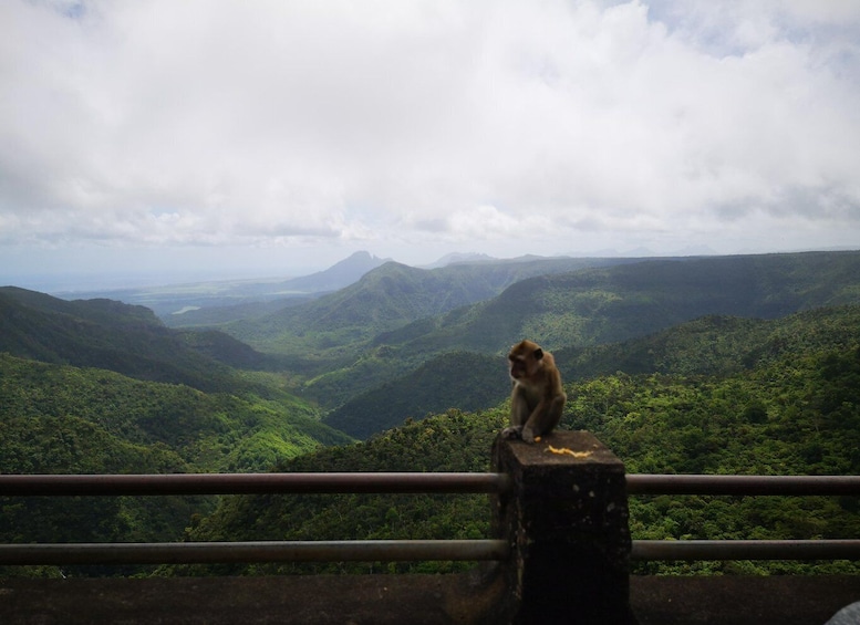
[[[860,248],[860,2],[0,0],[0,282],[704,246]]]

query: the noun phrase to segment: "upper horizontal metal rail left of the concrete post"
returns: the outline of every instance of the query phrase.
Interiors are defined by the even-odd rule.
[[[0,496],[502,493],[504,473],[0,475]]]

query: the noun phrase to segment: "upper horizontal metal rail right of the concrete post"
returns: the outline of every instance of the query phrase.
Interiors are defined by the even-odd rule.
[[[628,494],[860,494],[860,476],[626,476]]]

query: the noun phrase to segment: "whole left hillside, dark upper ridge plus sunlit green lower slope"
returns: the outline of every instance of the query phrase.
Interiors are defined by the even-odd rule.
[[[351,441],[213,356],[257,364],[232,337],[167,330],[141,306],[0,290],[0,472],[261,471]],[[0,540],[176,540],[214,503],[0,498]]]

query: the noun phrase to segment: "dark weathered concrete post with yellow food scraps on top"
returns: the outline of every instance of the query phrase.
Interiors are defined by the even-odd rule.
[[[510,541],[504,619],[632,624],[624,465],[586,431],[528,445],[498,438],[493,469],[512,489],[494,497],[495,538]]]

